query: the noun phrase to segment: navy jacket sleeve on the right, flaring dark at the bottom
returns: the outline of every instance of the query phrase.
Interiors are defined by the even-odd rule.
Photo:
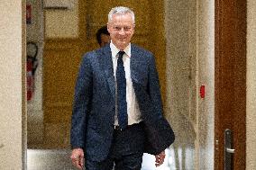
[[[149,101],[151,101],[149,103],[151,103],[152,107],[148,116],[150,120],[154,121],[151,121],[151,125],[145,124],[144,126],[148,137],[145,150],[150,154],[158,155],[164,149],[169,148],[174,142],[175,136],[169,122],[163,116],[159,76],[153,56],[151,56],[148,74],[149,83],[147,89],[150,97]]]

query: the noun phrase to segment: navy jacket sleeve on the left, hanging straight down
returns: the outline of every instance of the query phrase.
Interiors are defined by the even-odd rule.
[[[87,115],[90,112],[93,82],[89,53],[81,62],[72,111],[70,142],[71,148],[85,148]]]

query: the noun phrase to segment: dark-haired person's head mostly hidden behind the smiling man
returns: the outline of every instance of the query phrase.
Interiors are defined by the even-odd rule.
[[[106,44],[110,43],[110,35],[106,25],[96,31],[96,40],[100,47],[104,47]]]

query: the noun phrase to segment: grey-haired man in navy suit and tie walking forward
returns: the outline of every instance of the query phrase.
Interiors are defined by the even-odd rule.
[[[139,170],[143,152],[156,166],[174,134],[163,117],[152,53],[130,43],[134,13],[123,6],[108,14],[111,42],[88,52],[78,73],[71,127],[71,159],[87,170]]]

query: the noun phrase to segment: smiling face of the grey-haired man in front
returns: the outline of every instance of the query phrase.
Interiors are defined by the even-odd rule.
[[[107,30],[115,47],[117,49],[125,49],[133,37],[132,15],[129,13],[114,14],[112,21],[107,23]]]

